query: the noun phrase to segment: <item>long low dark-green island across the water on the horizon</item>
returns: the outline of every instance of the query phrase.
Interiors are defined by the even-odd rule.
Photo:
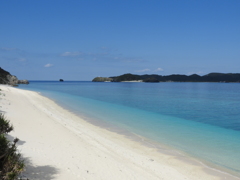
[[[240,82],[240,73],[209,73],[204,76],[197,74],[180,75],[172,74],[167,76],[152,74],[152,75],[136,75],[123,74],[113,77],[96,77],[93,82]]]

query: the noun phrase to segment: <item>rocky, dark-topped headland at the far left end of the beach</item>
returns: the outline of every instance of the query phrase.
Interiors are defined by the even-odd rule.
[[[17,86],[17,84],[29,84],[29,82],[27,80],[18,80],[16,76],[11,75],[0,67],[0,84]]]

